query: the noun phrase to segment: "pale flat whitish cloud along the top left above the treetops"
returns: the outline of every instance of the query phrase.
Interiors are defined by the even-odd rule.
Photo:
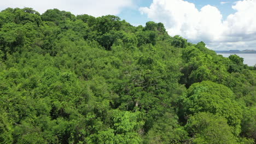
[[[133,0],[8,0],[0,4],[0,9],[30,7],[39,13],[47,9],[57,8],[71,11],[73,14],[89,14],[93,16],[117,15],[123,8],[133,7]]]

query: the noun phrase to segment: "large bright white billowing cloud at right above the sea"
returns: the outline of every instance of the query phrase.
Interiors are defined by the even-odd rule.
[[[170,35],[181,35],[212,49],[256,48],[256,0],[237,1],[236,13],[225,20],[218,8],[205,5],[200,10],[183,0],[154,0],[149,8],[139,8],[149,19],[165,24]],[[253,47],[255,45],[255,47]],[[251,47],[250,47],[251,46]]]

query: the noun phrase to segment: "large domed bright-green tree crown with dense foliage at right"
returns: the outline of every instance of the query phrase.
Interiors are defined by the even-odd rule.
[[[187,97],[184,100],[184,108],[188,114],[210,112],[224,116],[228,119],[228,124],[235,127],[235,134],[240,133],[242,110],[228,87],[211,81],[194,83],[188,89]]]

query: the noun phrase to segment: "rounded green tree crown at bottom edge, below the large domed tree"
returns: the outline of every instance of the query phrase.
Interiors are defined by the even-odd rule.
[[[191,143],[238,143],[226,119],[212,113],[197,113],[189,118],[185,128],[193,137]]]

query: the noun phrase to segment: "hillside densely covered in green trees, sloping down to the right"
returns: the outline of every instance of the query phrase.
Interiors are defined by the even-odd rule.
[[[0,143],[256,139],[256,70],[162,23],[0,13]]]

